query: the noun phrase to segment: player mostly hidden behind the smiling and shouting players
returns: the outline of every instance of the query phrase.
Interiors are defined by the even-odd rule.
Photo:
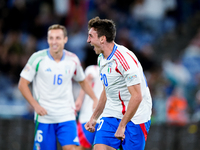
[[[99,77],[99,66],[90,65],[85,69],[86,79],[92,86],[92,89],[97,98],[100,98],[101,92],[103,90],[103,84]],[[81,89],[80,94],[76,100],[76,110],[79,111],[79,122],[78,122],[78,136],[80,141],[80,146],[77,150],[89,149],[93,145],[95,132],[91,133],[84,128],[84,125],[90,120],[93,113],[93,101],[85,94]],[[98,123],[96,124],[97,128]]]

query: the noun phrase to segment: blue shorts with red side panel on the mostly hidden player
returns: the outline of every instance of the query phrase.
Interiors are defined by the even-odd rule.
[[[94,136],[98,127],[98,124],[95,126],[95,132],[89,132],[85,129],[84,125],[86,123],[78,123],[78,137],[80,141],[80,145],[85,148],[90,148],[94,142]]]

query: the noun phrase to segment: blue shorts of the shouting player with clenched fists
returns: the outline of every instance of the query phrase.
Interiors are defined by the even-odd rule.
[[[114,136],[120,121],[121,119],[117,118],[101,118],[94,144],[105,144],[115,149],[122,147],[123,150],[144,150],[151,121],[138,125],[129,121],[126,125],[125,139],[123,141]]]

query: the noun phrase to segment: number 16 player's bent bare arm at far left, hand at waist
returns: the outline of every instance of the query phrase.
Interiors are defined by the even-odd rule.
[[[20,78],[19,83],[18,83],[18,88],[24,98],[29,102],[29,104],[34,108],[36,113],[40,116],[46,115],[47,111],[41,107],[38,102],[33,98],[32,93],[28,87],[30,82],[24,78]]]

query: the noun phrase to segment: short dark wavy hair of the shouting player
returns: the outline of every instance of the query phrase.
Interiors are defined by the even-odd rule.
[[[98,37],[105,36],[107,42],[112,42],[116,36],[115,23],[112,20],[95,17],[88,22],[88,29],[94,28]]]

